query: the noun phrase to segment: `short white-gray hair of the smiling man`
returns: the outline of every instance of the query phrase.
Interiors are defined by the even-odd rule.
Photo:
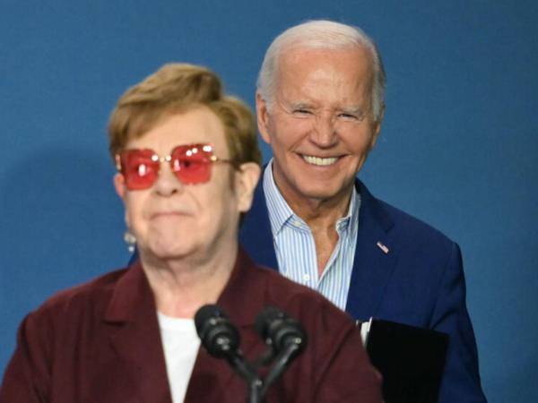
[[[385,107],[386,75],[376,44],[363,30],[335,21],[303,22],[285,30],[273,40],[265,52],[264,62],[256,82],[256,90],[271,108],[277,82],[278,59],[290,47],[343,49],[365,47],[372,57],[374,70],[371,104],[374,119],[378,120]]]

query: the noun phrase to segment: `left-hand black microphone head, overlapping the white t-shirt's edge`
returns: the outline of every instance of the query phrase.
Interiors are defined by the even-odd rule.
[[[202,306],[195,314],[195,327],[202,345],[211,356],[230,358],[237,353],[239,331],[217,305]]]

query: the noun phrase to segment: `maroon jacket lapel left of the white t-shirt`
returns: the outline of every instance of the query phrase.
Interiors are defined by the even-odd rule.
[[[156,307],[140,262],[117,282],[105,322],[123,369],[118,373],[126,373],[133,393],[129,401],[171,403]]]

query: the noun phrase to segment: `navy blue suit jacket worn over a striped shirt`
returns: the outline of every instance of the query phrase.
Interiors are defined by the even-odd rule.
[[[240,242],[254,261],[276,268],[262,182],[241,227]],[[439,403],[485,402],[458,245],[377,200],[359,180],[356,186],[359,233],[346,311],[360,321],[374,317],[447,333]],[[386,246],[387,253],[377,243]]]

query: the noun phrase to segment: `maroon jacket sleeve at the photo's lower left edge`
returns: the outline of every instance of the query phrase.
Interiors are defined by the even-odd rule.
[[[50,327],[36,313],[22,321],[17,335],[17,347],[8,364],[0,403],[45,403],[49,401]]]

